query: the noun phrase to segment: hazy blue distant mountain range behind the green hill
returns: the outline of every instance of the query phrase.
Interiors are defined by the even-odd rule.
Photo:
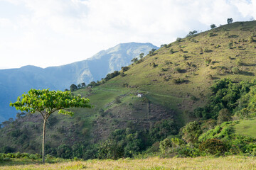
[[[145,55],[158,47],[151,43],[123,43],[102,50],[87,60],[59,67],[42,69],[25,66],[19,69],[0,70],[0,122],[14,118],[17,111],[9,107],[10,101],[30,89],[69,89],[71,84],[86,84],[104,78],[106,74],[120,70],[131,63],[140,53]]]

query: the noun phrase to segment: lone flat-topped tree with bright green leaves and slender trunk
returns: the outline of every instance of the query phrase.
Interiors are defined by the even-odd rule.
[[[31,89],[28,94],[18,96],[15,103],[10,103],[10,106],[17,110],[30,113],[39,112],[43,116],[43,145],[42,157],[44,160],[45,136],[46,136],[46,121],[49,116],[58,111],[64,115],[73,116],[73,112],[66,111],[65,108],[92,108],[88,98],[81,96],[73,96],[70,91],[49,91],[49,89],[36,90]]]

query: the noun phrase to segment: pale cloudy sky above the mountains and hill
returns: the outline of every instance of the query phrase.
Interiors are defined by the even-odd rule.
[[[0,0],[0,69],[69,64],[125,42],[160,46],[227,18],[252,21],[256,0]]]

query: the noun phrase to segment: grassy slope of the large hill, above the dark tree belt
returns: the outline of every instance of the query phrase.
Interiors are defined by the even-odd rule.
[[[139,128],[149,128],[157,120],[175,118],[180,126],[184,125],[191,120],[189,111],[207,102],[208,88],[215,79],[230,77],[240,81],[254,78],[256,42],[250,43],[248,39],[256,35],[255,30],[256,21],[243,22],[243,26],[233,23],[183,38],[181,42],[172,42],[171,47],[161,47],[153,56],[147,55],[143,62],[130,65],[125,77],[114,77],[95,88],[75,91],[75,94],[89,97],[95,108],[75,108],[72,118],[56,114],[58,122],[49,127],[46,140],[56,147],[60,142],[72,144],[80,140],[100,140],[112,130],[124,128],[127,121],[140,125]],[[209,33],[214,36],[210,37]],[[231,40],[234,45],[229,49]],[[170,53],[171,48],[174,54]],[[186,60],[183,55],[186,55]],[[206,64],[207,58],[212,61],[210,64]],[[153,62],[156,67],[152,67]],[[176,72],[177,67],[182,73]],[[233,67],[238,67],[240,74],[233,74]],[[174,84],[174,79],[178,78],[185,79],[186,83]],[[129,88],[123,84],[129,84]],[[150,103],[137,98],[138,92],[146,94]],[[113,102],[117,96],[121,97],[122,103]],[[198,101],[193,101],[192,96]],[[100,109],[103,109],[104,116],[100,115]],[[24,147],[8,134],[26,128],[33,132],[30,141],[39,145],[42,124],[38,118],[26,117],[1,130],[0,144]]]

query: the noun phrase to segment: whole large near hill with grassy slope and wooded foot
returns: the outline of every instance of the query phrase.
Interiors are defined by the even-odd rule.
[[[160,146],[166,156],[255,154],[254,138],[232,135],[237,125],[223,123],[233,115],[254,117],[255,35],[256,21],[193,33],[151,50],[115,76],[74,91],[90,98],[95,108],[75,108],[73,118],[54,115],[48,125],[47,153],[117,159],[146,149],[157,152]],[[2,152],[39,152],[39,118],[28,113],[6,123],[0,132]],[[209,148],[211,143],[218,148]]]

